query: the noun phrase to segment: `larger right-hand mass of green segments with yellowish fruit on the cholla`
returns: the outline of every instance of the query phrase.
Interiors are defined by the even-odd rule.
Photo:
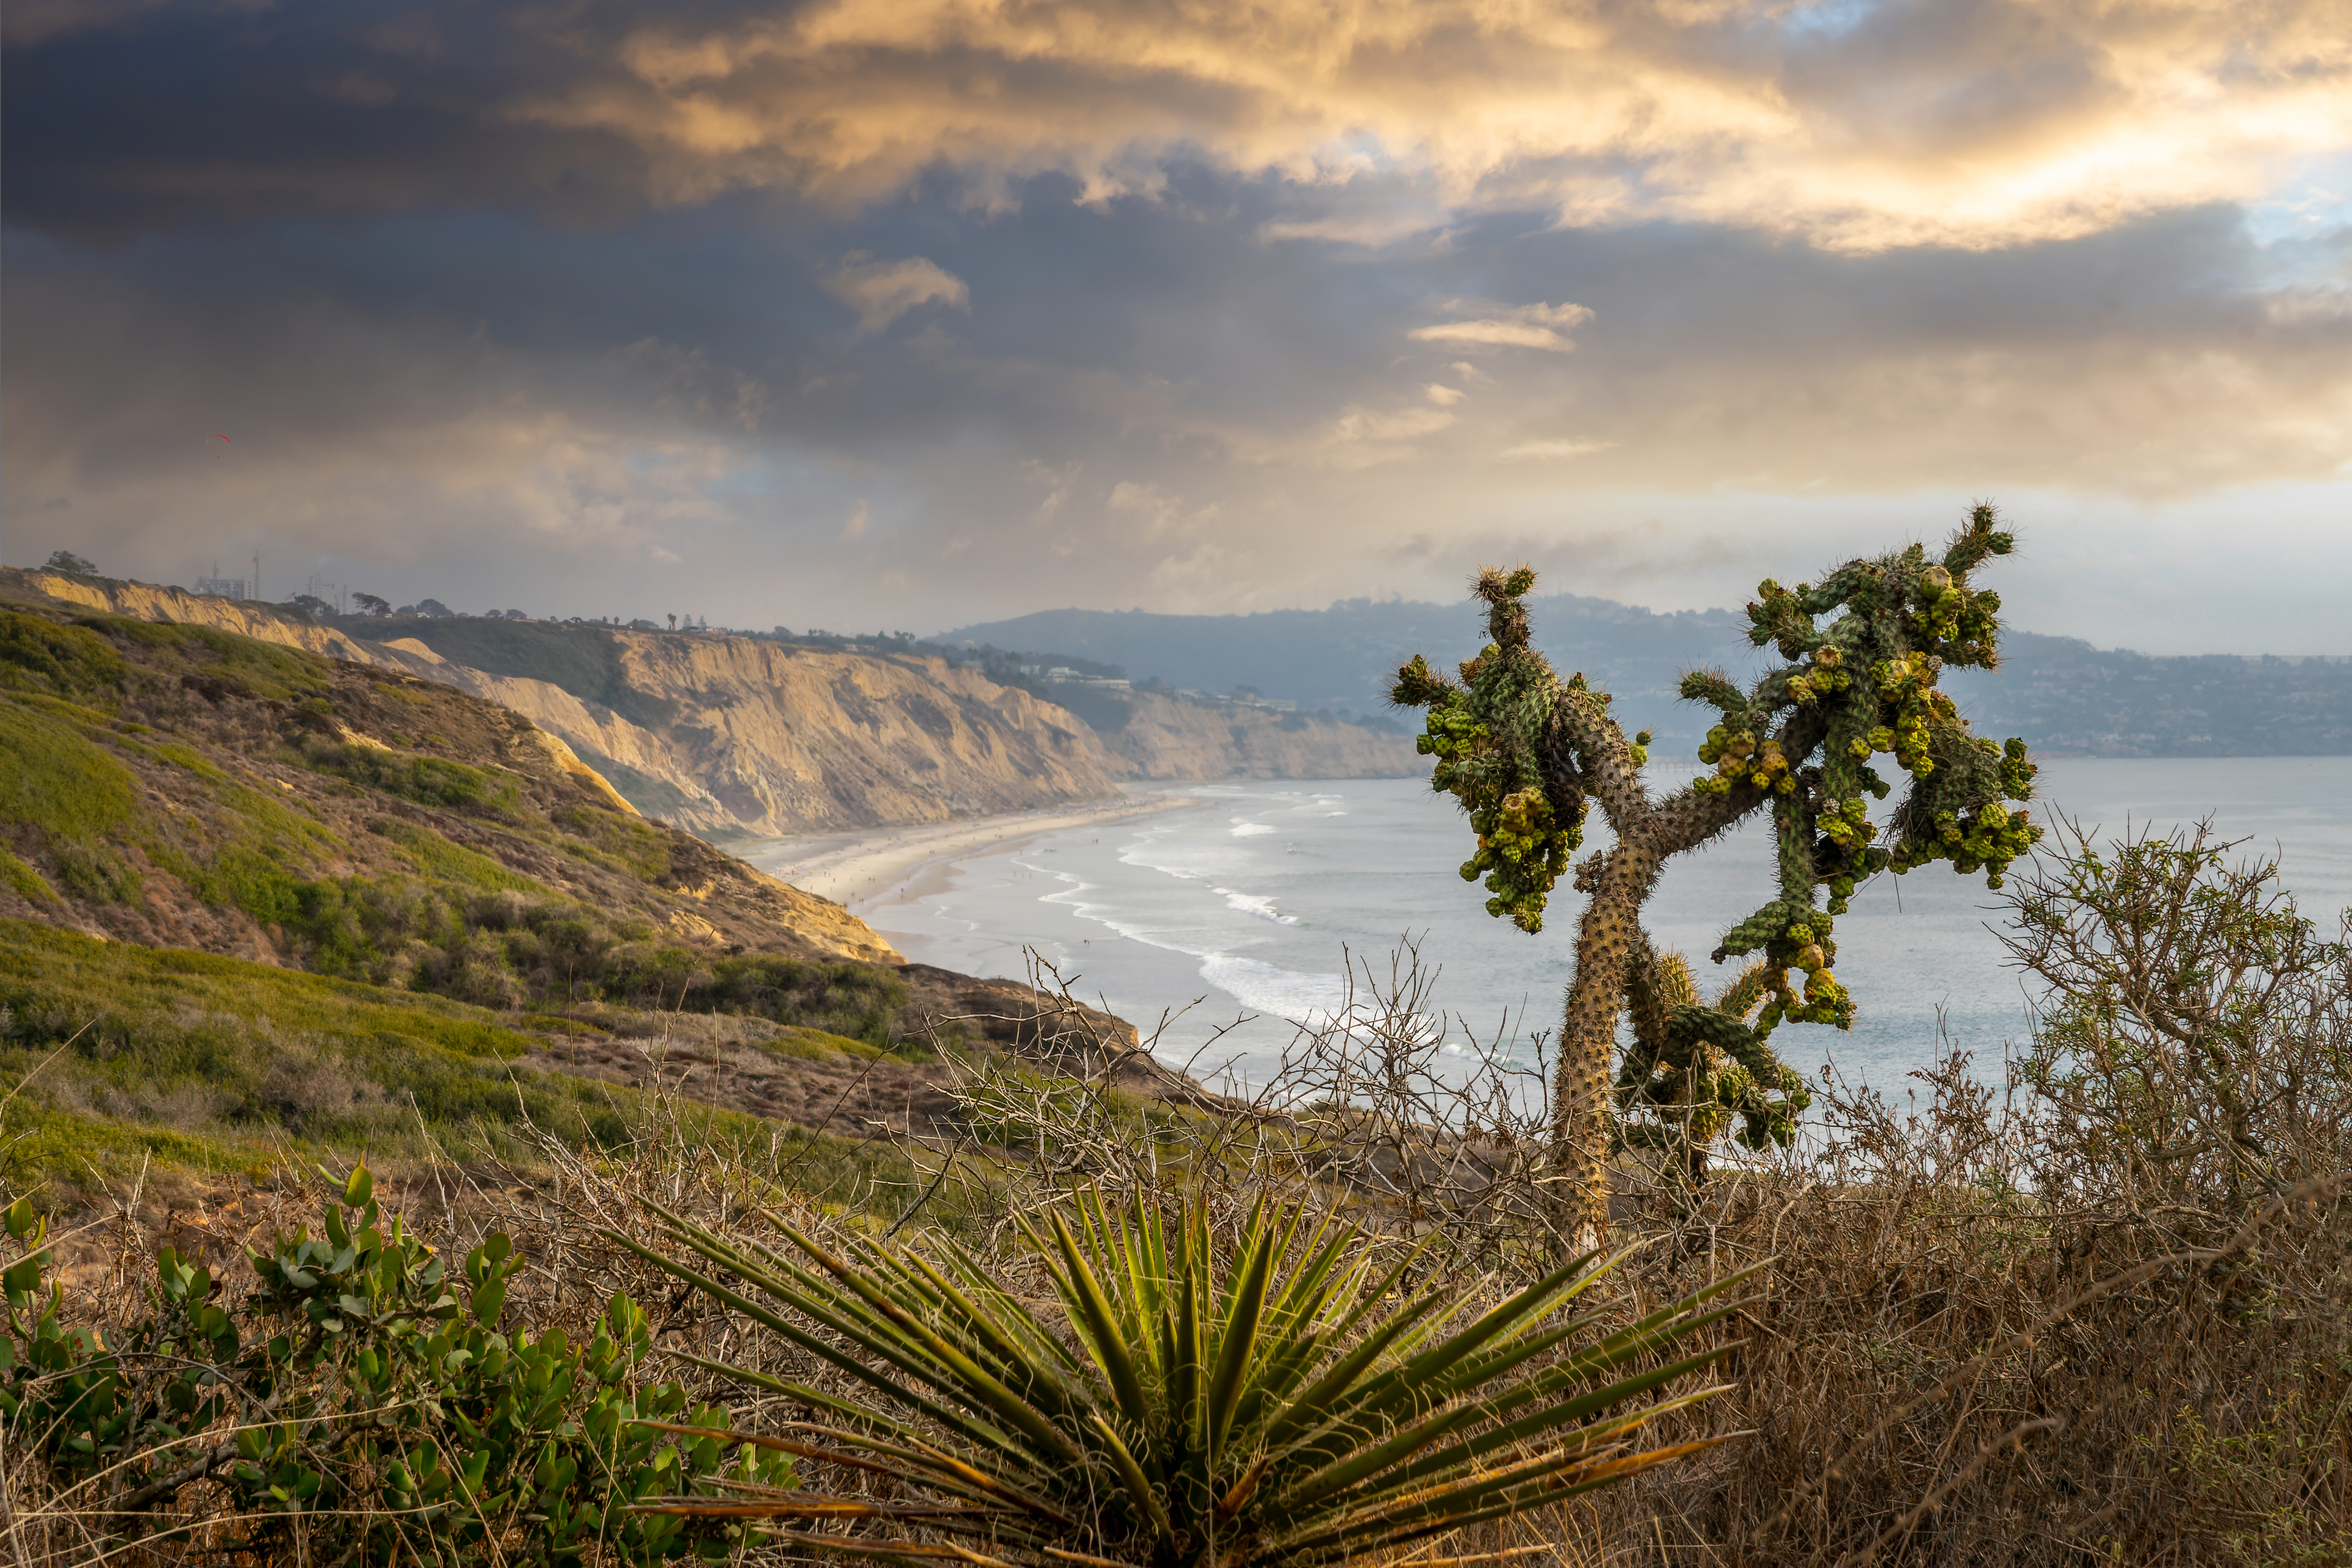
[[[1997,889],[2009,863],[2042,837],[2023,811],[2002,804],[2032,795],[2025,743],[1997,748],[1971,736],[1959,708],[1936,689],[1947,668],[1999,663],[2002,602],[1969,588],[1973,567],[2013,545],[1994,522],[1990,505],[1971,508],[1936,562],[1910,545],[1846,562],[1818,585],[1766,578],[1748,607],[1748,639],[1792,663],[1757,682],[1755,693],[1712,672],[1682,682],[1684,698],[1722,712],[1698,748],[1698,759],[1715,766],[1698,790],[1755,785],[1773,799],[1778,896],[1733,926],[1719,950],[1764,954],[1773,997],[1757,1020],[1762,1032],[1783,1018],[1853,1025],[1853,999],[1828,966],[1837,957],[1832,922],[1860,879],[1950,860],[1964,875],[1983,870]],[[1823,625],[1823,616],[1832,618]],[[1799,717],[1813,722],[1806,738],[1816,729],[1823,736],[1813,764],[1792,738]],[[1884,846],[1872,844],[1863,799],[1891,795],[1870,766],[1879,755],[1910,776]],[[1813,905],[1816,886],[1828,889],[1828,907]],[[1804,976],[1802,992],[1788,971]]]

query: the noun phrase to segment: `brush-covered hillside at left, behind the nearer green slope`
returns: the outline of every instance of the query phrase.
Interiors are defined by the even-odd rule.
[[[896,961],[527,717],[402,670],[0,585],[0,914],[108,940],[482,997],[513,964],[468,931],[550,910],[534,961],[574,973],[661,943]]]

